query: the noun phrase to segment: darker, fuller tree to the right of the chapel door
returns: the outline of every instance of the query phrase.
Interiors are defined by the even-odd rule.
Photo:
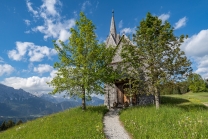
[[[134,80],[141,82],[141,74],[145,76],[145,92],[155,96],[156,108],[159,108],[161,85],[183,81],[192,71],[191,62],[180,50],[185,36],[176,37],[173,32],[170,23],[162,23],[148,13],[133,35],[135,45],[124,45],[121,54]]]

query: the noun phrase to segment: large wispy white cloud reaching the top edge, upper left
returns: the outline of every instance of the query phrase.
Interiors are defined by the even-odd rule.
[[[45,40],[54,38],[66,41],[70,36],[69,29],[75,25],[75,19],[63,19],[57,10],[57,7],[61,5],[59,0],[43,0],[43,4],[38,8],[39,11],[36,14],[29,10],[38,20],[44,21],[43,25],[33,27],[32,31],[43,33]]]

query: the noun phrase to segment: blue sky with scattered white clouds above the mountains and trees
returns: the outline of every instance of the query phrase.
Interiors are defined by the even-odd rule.
[[[67,41],[80,11],[93,21],[100,42],[115,11],[117,33],[132,35],[147,12],[167,20],[175,35],[188,35],[181,49],[194,72],[208,78],[208,1],[190,0],[1,0],[0,83],[31,93],[48,93],[46,84],[58,60],[52,40]]]

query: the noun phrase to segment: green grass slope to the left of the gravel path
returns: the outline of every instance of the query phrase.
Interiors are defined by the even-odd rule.
[[[101,139],[104,106],[73,108],[29,121],[0,133],[0,139]]]

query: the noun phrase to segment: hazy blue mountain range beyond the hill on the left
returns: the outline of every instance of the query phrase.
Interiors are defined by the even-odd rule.
[[[92,97],[87,105],[102,105],[104,100]],[[8,118],[34,118],[81,106],[79,98],[63,98],[49,94],[39,96],[23,89],[0,84],[0,121]]]

